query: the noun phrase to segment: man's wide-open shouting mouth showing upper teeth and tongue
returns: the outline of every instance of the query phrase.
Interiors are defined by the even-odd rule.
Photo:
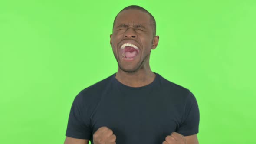
[[[121,55],[123,59],[131,59],[133,60],[135,56],[138,55],[140,49],[138,49],[137,46],[131,44],[131,43],[124,43],[121,46]]]

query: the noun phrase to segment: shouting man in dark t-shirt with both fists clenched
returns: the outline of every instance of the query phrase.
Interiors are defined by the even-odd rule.
[[[155,34],[154,17],[144,8],[118,13],[110,35],[118,72],[75,97],[65,144],[198,144],[194,95],[150,69]]]

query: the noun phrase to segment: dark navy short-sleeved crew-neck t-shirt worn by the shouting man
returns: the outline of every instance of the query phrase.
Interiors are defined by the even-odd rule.
[[[116,144],[162,144],[173,131],[197,134],[194,95],[154,73],[154,81],[143,87],[124,85],[113,74],[80,91],[72,103],[66,136],[93,144],[95,131],[106,126],[116,135]]]

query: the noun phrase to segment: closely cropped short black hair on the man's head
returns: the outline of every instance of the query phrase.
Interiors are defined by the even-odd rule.
[[[140,6],[137,6],[137,5],[131,5],[131,6],[128,6],[128,7],[125,7],[123,10],[121,10],[119,13],[121,13],[122,11],[124,10],[141,10],[142,12],[145,12],[145,13],[148,13],[149,16],[150,16],[150,19],[151,19],[151,22],[152,22],[152,29],[153,29],[153,36],[156,35],[156,21],[154,19],[154,16],[151,15],[151,13],[148,12],[148,10],[144,9],[143,7],[140,7]],[[118,14],[119,14],[118,13]],[[115,16],[115,20],[118,16],[118,14]],[[114,29],[114,25],[115,25],[115,20],[114,20],[114,23],[113,23],[113,29]]]

